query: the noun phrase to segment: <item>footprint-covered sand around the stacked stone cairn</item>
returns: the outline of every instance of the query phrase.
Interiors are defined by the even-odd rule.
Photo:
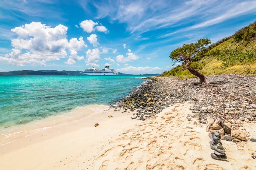
[[[255,170],[251,154],[256,142],[221,140],[228,159],[212,159],[205,124],[191,114],[188,104],[177,104],[146,119],[113,140],[96,159],[96,170]],[[256,137],[256,123],[244,124]]]

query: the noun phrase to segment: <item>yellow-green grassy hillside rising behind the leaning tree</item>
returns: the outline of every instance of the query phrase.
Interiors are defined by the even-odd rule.
[[[215,51],[231,51],[236,52],[235,57],[231,57],[232,53],[226,53],[226,59],[233,59],[233,62],[228,65],[223,64],[223,61],[218,60],[218,55]],[[256,22],[242,28],[230,37],[226,37],[212,45],[210,45],[205,52],[204,57],[198,59],[193,63],[193,67],[201,71],[205,75],[215,74],[250,74],[256,75],[256,60],[250,62],[239,62],[236,58],[239,54],[250,52],[255,54],[256,51]],[[189,71],[183,71],[180,66],[163,72],[162,76],[179,76],[180,79],[186,77],[194,77]]]

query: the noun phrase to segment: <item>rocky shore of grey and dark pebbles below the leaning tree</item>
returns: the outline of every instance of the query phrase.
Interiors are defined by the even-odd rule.
[[[256,77],[241,75],[208,76],[209,84],[198,84],[198,78],[180,80],[177,77],[147,77],[147,83],[130,96],[120,100],[118,106],[135,111],[132,119],[145,120],[176,103],[192,103],[190,110],[199,122],[207,117],[250,122],[256,119]]]

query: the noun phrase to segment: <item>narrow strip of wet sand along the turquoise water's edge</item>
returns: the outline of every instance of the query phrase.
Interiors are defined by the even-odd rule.
[[[135,78],[145,79],[147,77],[135,77]],[[113,107],[113,106],[118,107],[120,105],[120,103],[121,103],[120,101],[122,99],[127,98],[128,96],[133,94],[134,91],[138,91],[141,86],[147,85],[147,81],[148,80],[145,80],[145,82],[142,82],[141,85],[138,85],[137,87],[135,87],[131,91],[131,93],[127,94],[126,96],[124,96],[120,99],[117,99],[116,101],[113,101],[112,103],[110,103],[108,105],[90,104],[90,105],[78,106],[78,107],[71,109],[68,112],[58,113],[57,115],[48,116],[44,119],[33,120],[32,122],[28,122],[26,124],[4,127],[0,130],[0,146],[10,143],[10,142],[14,142],[17,139],[29,136],[29,135],[35,133],[36,131],[45,130],[48,128],[52,128],[54,126],[86,119],[97,112],[104,112],[108,109],[111,109],[111,107]],[[97,111],[98,109],[99,109],[99,111]],[[84,110],[86,110],[86,112],[84,112]],[[79,111],[82,114],[78,113]],[[34,127],[34,128],[31,129],[31,127]],[[14,136],[14,138],[15,138],[14,140],[10,139],[10,137],[12,137],[12,136]],[[5,142],[5,139],[7,139],[6,142]]]

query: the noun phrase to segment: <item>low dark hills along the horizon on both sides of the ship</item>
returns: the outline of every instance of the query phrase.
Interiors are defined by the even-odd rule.
[[[5,71],[0,72],[0,75],[80,75],[81,71],[57,71],[57,70],[18,70],[18,71]],[[118,72],[118,75],[154,75],[159,76],[160,74],[125,74]]]

